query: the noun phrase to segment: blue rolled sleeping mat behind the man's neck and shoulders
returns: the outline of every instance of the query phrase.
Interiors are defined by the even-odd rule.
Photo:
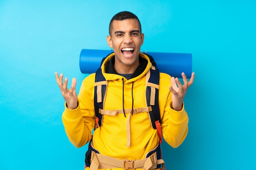
[[[111,50],[82,49],[80,53],[79,66],[81,73],[95,73],[101,65],[101,60]],[[167,73],[172,77],[182,78],[184,72],[187,78],[191,78],[192,73],[192,54],[191,53],[162,53],[162,52],[143,52],[151,55],[157,68],[162,73]]]

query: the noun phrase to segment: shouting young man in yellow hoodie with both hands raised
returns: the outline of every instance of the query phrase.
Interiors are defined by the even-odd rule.
[[[162,135],[176,148],[188,132],[183,99],[193,83],[194,73],[190,81],[182,73],[184,85],[179,79],[160,73],[157,88],[162,134],[159,135],[157,129],[152,128],[149,110],[143,110],[148,108],[145,95],[148,72],[154,67],[148,56],[140,53],[144,34],[139,19],[127,11],[117,13],[110,21],[109,34],[107,42],[114,53],[102,64],[102,75],[107,82],[103,99],[105,112],[101,110],[102,124],[94,130],[93,138],[95,73],[83,80],[78,97],[76,79],[72,79],[71,88],[67,89],[67,78],[63,84],[63,74],[58,77],[56,73],[57,84],[66,101],[62,117],[65,131],[76,147],[84,146],[92,139],[91,170],[157,169],[163,163],[157,151]],[[154,155],[155,151],[157,155]]]

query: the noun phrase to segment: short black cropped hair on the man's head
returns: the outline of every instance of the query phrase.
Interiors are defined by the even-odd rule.
[[[116,15],[114,15],[109,23],[109,30],[108,30],[109,35],[111,35],[113,21],[122,21],[122,20],[128,20],[128,19],[136,19],[139,22],[139,18],[134,13],[131,13],[129,11],[122,11],[122,12],[119,12]],[[140,33],[141,33],[140,22],[139,22],[139,29],[140,29]]]

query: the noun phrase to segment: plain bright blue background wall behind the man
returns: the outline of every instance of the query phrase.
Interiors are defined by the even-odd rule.
[[[132,11],[143,51],[193,54],[189,134],[162,146],[170,170],[255,170],[255,0],[0,0],[0,169],[82,170],[54,72],[77,78],[81,49],[109,49],[108,24]],[[70,84],[69,84],[70,85]]]

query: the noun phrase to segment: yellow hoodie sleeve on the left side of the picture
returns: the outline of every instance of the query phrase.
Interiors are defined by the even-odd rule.
[[[67,137],[77,148],[84,146],[92,138],[92,130],[95,124],[94,79],[95,74],[91,74],[83,80],[78,95],[78,107],[69,110],[65,104],[62,115]]]

